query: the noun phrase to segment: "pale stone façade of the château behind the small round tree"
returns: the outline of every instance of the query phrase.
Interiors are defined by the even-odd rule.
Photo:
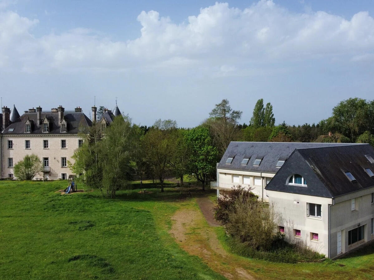
[[[38,134],[38,135],[3,135],[1,137],[2,145],[2,170],[1,177],[8,177],[13,174],[13,168],[8,167],[8,158],[13,158],[13,166],[24,158],[25,155],[32,153],[39,156],[40,160],[49,158],[50,172],[45,176],[50,180],[61,178],[62,173],[67,177],[72,174],[68,167],[61,167],[61,158],[66,157],[67,161],[73,162],[71,156],[74,150],[78,148],[78,140],[81,139],[77,134]],[[8,140],[13,141],[13,149],[8,149]],[[25,140],[30,140],[30,149],[25,149]],[[48,140],[49,147],[43,148],[43,140]],[[66,148],[61,148],[61,140],[66,140]],[[35,179],[43,178],[40,173]]]

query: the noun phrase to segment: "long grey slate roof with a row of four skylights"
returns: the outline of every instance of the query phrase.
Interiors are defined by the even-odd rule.
[[[297,148],[357,146],[352,143],[287,143],[287,142],[230,142],[217,168],[243,171],[276,173],[279,160],[285,160]],[[259,166],[253,166],[256,158],[263,159]],[[231,164],[226,164],[229,157],[234,157]],[[243,158],[250,158],[247,165],[241,165]]]

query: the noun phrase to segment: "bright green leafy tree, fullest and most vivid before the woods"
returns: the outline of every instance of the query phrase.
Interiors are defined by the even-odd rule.
[[[191,156],[189,173],[202,183],[203,190],[205,190],[208,174],[215,171],[218,150],[213,146],[206,127],[195,127],[189,130],[187,140]]]

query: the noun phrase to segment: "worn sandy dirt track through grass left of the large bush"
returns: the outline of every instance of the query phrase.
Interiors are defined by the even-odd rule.
[[[255,279],[248,271],[249,262],[223,249],[214,228],[206,226],[198,209],[181,209],[175,212],[172,221],[169,233],[185,251],[199,256],[212,270],[228,279]]]

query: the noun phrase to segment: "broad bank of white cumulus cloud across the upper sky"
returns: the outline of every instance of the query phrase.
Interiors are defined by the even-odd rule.
[[[1,1],[1,6],[9,6]],[[0,12],[0,67],[24,71],[201,67],[234,72],[253,63],[347,56],[351,63],[372,57],[374,19],[359,12],[351,19],[326,12],[293,13],[273,1],[246,9],[215,3],[183,23],[142,11],[141,35],[113,41],[77,28],[36,38],[37,19]],[[331,57],[332,56],[332,57]]]

